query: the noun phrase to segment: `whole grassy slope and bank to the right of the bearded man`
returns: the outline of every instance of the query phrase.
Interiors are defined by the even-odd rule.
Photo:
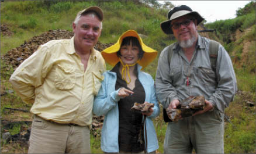
[[[237,10],[237,17],[206,24],[217,31],[217,37],[224,42],[236,72],[238,89],[251,92],[236,95],[234,102],[225,110],[231,123],[225,126],[225,153],[255,153],[255,107],[248,108],[245,98],[255,102],[255,10],[251,1]],[[213,35],[213,34],[210,34]],[[230,144],[229,144],[230,143]]]

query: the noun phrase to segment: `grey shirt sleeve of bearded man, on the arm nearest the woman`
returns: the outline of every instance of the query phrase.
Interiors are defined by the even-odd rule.
[[[172,85],[170,76],[169,63],[169,46],[164,48],[158,59],[157,74],[155,76],[155,88],[157,91],[157,98],[162,103],[164,108],[168,108],[169,103],[178,99],[175,87]]]

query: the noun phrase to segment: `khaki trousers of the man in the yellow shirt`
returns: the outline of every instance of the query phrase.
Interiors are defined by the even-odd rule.
[[[89,128],[34,116],[28,153],[91,153]]]

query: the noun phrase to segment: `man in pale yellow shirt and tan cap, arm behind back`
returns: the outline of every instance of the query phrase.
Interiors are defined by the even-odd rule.
[[[13,89],[33,103],[29,153],[91,153],[92,107],[106,70],[94,49],[102,20],[98,6],[81,10],[74,37],[41,45],[12,74]]]

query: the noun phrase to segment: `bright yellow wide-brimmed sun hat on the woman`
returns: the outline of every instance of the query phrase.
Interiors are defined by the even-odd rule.
[[[123,38],[126,37],[136,37],[139,40],[140,46],[144,51],[143,57],[138,62],[139,65],[142,66],[142,69],[144,69],[149,63],[153,62],[157,56],[157,51],[145,45],[136,31],[127,30],[119,37],[118,41],[114,45],[109,46],[101,52],[103,58],[107,63],[109,63],[109,65],[115,66],[120,61],[116,53],[120,49]]]

